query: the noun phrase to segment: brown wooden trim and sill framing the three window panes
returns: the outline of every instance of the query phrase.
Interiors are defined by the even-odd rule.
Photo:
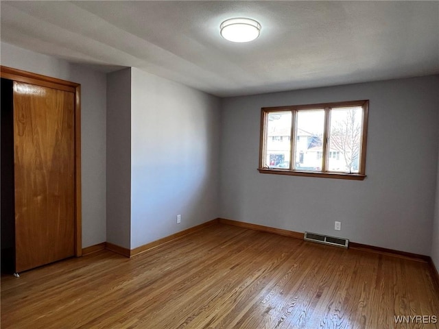
[[[329,133],[329,109],[330,108],[348,108],[353,106],[361,106],[363,108],[363,125],[362,125],[362,134],[361,134],[361,152],[360,152],[360,163],[359,163],[359,172],[358,173],[340,173],[334,171],[326,171],[326,166],[328,163],[327,154],[327,145],[328,138],[327,134]],[[295,122],[296,113],[298,110],[316,110],[316,109],[324,109],[324,132],[322,138],[322,156],[324,156],[324,161],[322,161],[322,172],[318,171],[299,171],[294,169],[270,169],[268,167],[264,167],[265,161],[265,151],[267,145],[267,134],[265,133],[265,128],[268,125],[268,114],[270,112],[292,112],[292,122]],[[319,177],[319,178],[337,178],[342,180],[364,180],[366,178],[366,144],[368,137],[368,112],[369,112],[369,101],[368,100],[360,100],[360,101],[339,101],[332,103],[317,103],[317,104],[306,104],[306,105],[294,105],[294,106],[276,106],[270,108],[261,108],[261,127],[260,127],[260,136],[259,136],[259,173],[271,173],[275,175],[294,175],[294,176],[307,176],[307,177]],[[290,157],[289,164],[293,165],[294,158],[294,147],[296,146],[294,137],[296,131],[296,125],[292,125],[292,132],[290,138]]]

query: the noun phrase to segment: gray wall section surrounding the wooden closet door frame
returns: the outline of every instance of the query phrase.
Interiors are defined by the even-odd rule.
[[[106,241],[106,76],[1,42],[1,65],[81,84],[82,247]]]

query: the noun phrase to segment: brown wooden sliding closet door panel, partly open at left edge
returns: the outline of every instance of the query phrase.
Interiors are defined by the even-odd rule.
[[[75,255],[74,93],[14,82],[16,271]]]

